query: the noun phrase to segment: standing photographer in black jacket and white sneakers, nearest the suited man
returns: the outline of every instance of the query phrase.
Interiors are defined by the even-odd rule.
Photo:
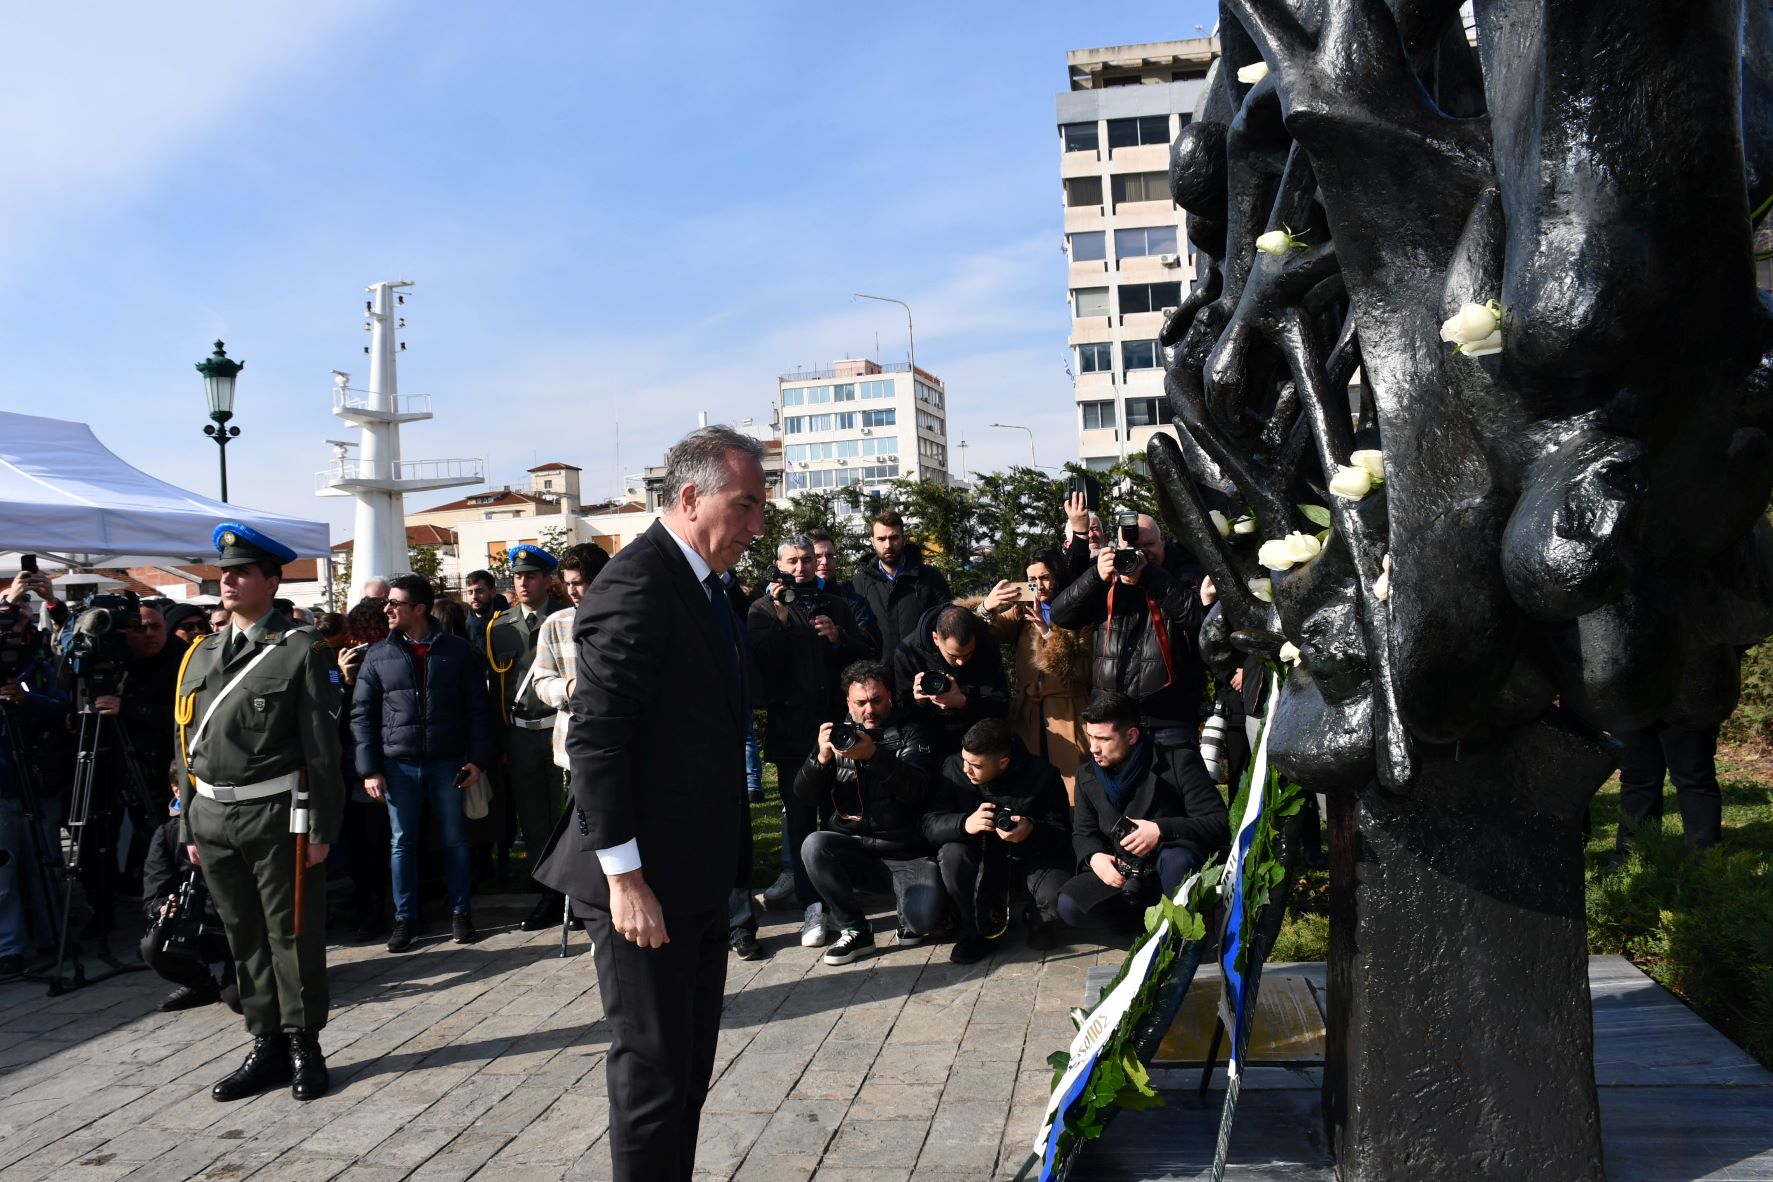
[[[794,774],[819,744],[819,727],[844,714],[837,679],[844,666],[867,657],[872,645],[856,627],[847,604],[819,587],[812,572],[812,539],[785,537],[777,546],[777,581],[752,604],[746,631],[762,682],[769,727],[764,758],[777,766],[782,790],[782,847],[791,854],[794,897],[805,913],[801,945],[824,945],[819,893],[807,877],[800,845],[819,828],[819,812],[794,794]]]

